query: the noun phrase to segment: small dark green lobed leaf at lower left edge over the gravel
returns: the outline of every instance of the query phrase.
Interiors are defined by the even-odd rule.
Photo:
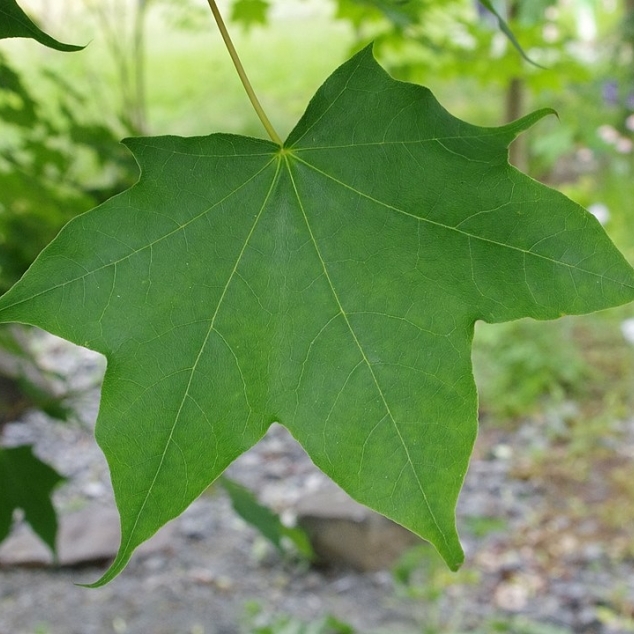
[[[9,534],[15,509],[55,553],[57,517],[51,492],[64,478],[33,455],[30,445],[0,447],[0,542]]]

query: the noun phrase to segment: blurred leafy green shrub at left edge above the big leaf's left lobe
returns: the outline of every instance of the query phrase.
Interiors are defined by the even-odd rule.
[[[72,217],[130,186],[137,168],[86,98],[50,71],[39,95],[0,55],[0,293]]]

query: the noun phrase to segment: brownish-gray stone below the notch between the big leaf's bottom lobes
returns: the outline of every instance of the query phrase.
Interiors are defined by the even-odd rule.
[[[389,568],[421,540],[402,526],[355,502],[334,484],[302,498],[297,522],[322,563],[361,571]]]

